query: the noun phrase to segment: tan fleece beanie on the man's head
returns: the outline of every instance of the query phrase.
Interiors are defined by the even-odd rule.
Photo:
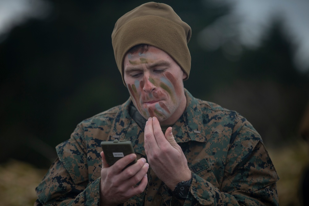
[[[149,2],[129,11],[117,20],[112,32],[114,55],[123,82],[123,60],[129,49],[138,44],[149,44],[169,54],[188,79],[190,38],[191,27],[167,4]]]

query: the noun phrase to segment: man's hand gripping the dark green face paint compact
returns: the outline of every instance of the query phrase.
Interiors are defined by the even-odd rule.
[[[129,154],[109,166],[102,157],[100,205],[118,205],[126,202],[134,195],[142,193],[148,183],[147,171],[149,164],[145,158],[140,158],[135,164],[127,167],[136,158],[136,154]],[[122,171],[123,170],[123,171]],[[137,183],[140,184],[135,187]]]

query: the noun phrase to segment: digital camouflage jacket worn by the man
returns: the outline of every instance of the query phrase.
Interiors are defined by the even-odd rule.
[[[184,205],[278,205],[278,176],[260,135],[235,111],[194,98],[173,134],[192,170]],[[36,188],[36,205],[99,205],[101,141],[129,140],[146,157],[144,128],[129,115],[131,99],[82,121]],[[148,186],[124,205],[179,205],[168,187],[148,171]]]

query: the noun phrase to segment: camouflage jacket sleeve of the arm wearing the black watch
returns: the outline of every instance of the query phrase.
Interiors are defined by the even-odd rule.
[[[193,173],[184,205],[278,205],[279,178],[260,135],[246,120],[237,124],[220,186]]]

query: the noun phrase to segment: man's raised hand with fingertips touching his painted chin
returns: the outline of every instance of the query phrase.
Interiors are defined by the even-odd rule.
[[[171,190],[177,183],[192,178],[188,162],[181,147],[176,143],[172,128],[163,134],[158,118],[149,118],[145,126],[145,151],[155,174]]]

